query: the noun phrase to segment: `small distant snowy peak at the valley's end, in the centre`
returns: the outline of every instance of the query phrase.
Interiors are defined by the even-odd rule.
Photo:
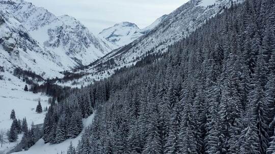
[[[158,18],[151,25],[144,29],[140,29],[136,24],[130,22],[121,22],[115,24],[113,27],[103,29],[99,36],[108,41],[109,43],[115,45],[117,48],[128,45],[140,36],[150,32],[154,27],[156,27],[166,15]]]

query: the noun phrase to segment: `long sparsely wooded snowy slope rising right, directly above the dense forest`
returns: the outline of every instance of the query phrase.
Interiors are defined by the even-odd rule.
[[[87,79],[93,81],[105,78],[117,68],[135,64],[148,51],[166,52],[169,45],[188,36],[207,19],[223,12],[225,7],[231,7],[232,3],[240,2],[243,0],[190,0],[165,16],[150,32],[132,43],[112,51],[81,70],[73,70],[76,73],[86,74],[77,82],[85,84]]]

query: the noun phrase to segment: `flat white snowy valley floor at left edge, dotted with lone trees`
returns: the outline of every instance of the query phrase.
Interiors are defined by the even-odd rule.
[[[42,124],[45,117],[45,112],[36,113],[35,108],[38,100],[41,101],[42,108],[49,107],[47,103],[48,97],[41,93],[34,94],[32,92],[25,92],[23,88],[25,84],[18,78],[11,74],[6,74],[9,79],[0,80],[0,130],[8,131],[12,124],[10,120],[11,110],[15,110],[17,119],[22,120],[26,118],[29,128],[32,122],[34,124]],[[17,142],[4,143],[0,146],[0,153],[6,153],[16,146],[22,138],[22,134],[18,136]]]

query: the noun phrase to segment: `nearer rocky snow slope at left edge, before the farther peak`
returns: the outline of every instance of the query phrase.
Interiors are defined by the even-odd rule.
[[[38,74],[47,72],[45,77],[62,76],[55,54],[41,47],[12,14],[0,11],[0,20],[0,65],[4,70],[20,67]]]

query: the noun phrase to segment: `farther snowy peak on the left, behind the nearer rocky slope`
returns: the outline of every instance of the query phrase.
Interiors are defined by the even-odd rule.
[[[43,48],[44,54],[51,53],[47,58],[59,66],[57,69],[53,67],[55,71],[88,65],[112,50],[70,16],[57,17],[44,8],[21,0],[2,0],[0,5],[28,31],[37,46]]]

